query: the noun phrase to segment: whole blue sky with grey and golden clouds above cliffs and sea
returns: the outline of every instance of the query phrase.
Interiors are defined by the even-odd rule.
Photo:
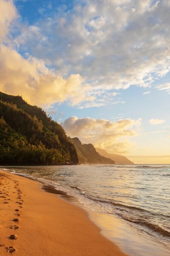
[[[170,0],[0,0],[0,91],[70,137],[170,163]]]

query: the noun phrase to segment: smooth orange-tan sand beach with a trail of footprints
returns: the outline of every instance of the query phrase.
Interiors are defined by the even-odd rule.
[[[83,209],[41,186],[0,171],[0,255],[126,255]]]

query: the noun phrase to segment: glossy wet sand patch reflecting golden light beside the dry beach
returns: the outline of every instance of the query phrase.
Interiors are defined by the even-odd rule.
[[[152,241],[147,235],[141,236],[133,223],[125,223],[124,220],[110,214],[90,212],[90,219],[101,229],[101,234],[116,243],[121,250],[134,256],[168,256],[165,248]]]

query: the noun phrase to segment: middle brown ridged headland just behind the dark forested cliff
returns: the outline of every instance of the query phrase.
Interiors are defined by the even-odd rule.
[[[92,144],[82,144],[79,138],[70,138],[73,142],[74,146],[76,147],[76,151],[78,154],[78,158],[80,163],[82,164],[114,164],[114,160],[110,158],[106,158],[101,156],[99,153],[96,152],[96,149]]]

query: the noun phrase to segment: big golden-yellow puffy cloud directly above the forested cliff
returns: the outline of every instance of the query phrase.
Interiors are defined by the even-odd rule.
[[[17,65],[16,65],[17,63]],[[46,68],[42,60],[33,57],[24,59],[15,50],[0,47],[0,90],[20,94],[31,104],[53,104],[70,101],[78,104],[85,99],[88,85],[82,85],[79,74],[63,79]]]

